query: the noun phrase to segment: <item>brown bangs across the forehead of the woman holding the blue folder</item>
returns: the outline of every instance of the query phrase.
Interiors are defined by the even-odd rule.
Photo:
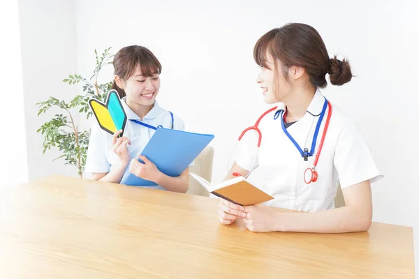
[[[127,61],[128,72],[126,79],[135,73],[137,66],[140,66],[143,77],[152,77],[161,74],[161,63],[156,56],[145,47],[138,47],[132,55],[132,59]]]

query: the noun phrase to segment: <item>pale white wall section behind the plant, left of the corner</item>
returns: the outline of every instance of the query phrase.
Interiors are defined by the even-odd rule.
[[[57,150],[43,154],[43,136],[36,133],[60,110],[38,114],[35,104],[50,96],[71,100],[76,86],[61,82],[76,71],[75,2],[73,0],[19,0],[24,110],[26,112],[29,180],[50,174],[77,176],[78,170],[64,165]],[[78,117],[76,117],[78,119]]]

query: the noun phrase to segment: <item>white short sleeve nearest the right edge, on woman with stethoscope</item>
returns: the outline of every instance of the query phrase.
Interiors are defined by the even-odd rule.
[[[342,189],[367,180],[374,183],[383,177],[365,138],[353,122],[347,123],[339,134],[334,164]]]

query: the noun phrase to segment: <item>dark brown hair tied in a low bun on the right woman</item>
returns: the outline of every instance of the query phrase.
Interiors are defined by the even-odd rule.
[[[290,23],[265,33],[253,50],[253,57],[259,66],[269,68],[267,53],[274,58],[275,80],[278,76],[277,60],[282,63],[282,74],[286,80],[289,67],[302,67],[316,88],[328,85],[327,73],[333,85],[342,85],[352,79],[348,60],[340,61],[336,56],[330,59],[320,34],[307,24]]]

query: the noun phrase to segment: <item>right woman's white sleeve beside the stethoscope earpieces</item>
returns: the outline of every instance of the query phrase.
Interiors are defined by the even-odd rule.
[[[256,169],[259,165],[257,146],[258,135],[254,130],[249,130],[243,135],[240,142],[237,142],[235,150],[231,154],[232,158],[229,160],[235,160],[237,165],[247,171]]]

